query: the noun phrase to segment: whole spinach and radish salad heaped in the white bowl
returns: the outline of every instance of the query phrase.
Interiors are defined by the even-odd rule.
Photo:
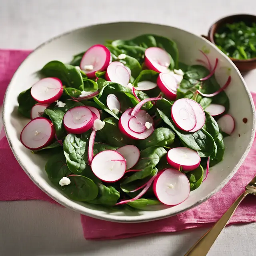
[[[235,127],[229,100],[202,52],[178,61],[157,35],[106,41],[40,71],[18,96],[31,118],[22,144],[47,157],[49,180],[69,198],[114,208],[180,204],[222,161]]]

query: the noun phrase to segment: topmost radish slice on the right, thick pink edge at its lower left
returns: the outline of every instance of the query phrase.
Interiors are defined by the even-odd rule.
[[[171,57],[162,48],[150,47],[145,51],[145,66],[156,72],[166,72],[171,63]]]

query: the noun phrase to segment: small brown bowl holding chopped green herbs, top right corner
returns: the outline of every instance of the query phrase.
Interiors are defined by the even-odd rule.
[[[226,23],[234,23],[244,21],[247,24],[250,24],[252,22],[256,23],[256,16],[250,15],[250,14],[236,14],[227,16],[225,18],[222,18],[218,21],[216,21],[209,29],[208,36],[203,36],[204,38],[208,39],[210,42],[215,44],[214,42],[214,34],[218,31],[219,28],[224,26]],[[248,59],[248,60],[237,60],[234,58],[230,58],[232,62],[237,66],[237,68],[240,70],[240,72],[247,72],[254,68],[256,68],[256,58]]]

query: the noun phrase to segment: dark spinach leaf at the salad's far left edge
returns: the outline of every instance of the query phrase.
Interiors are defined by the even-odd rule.
[[[31,108],[37,103],[34,98],[32,98],[30,93],[31,88],[23,91],[18,96],[18,112],[27,118],[30,118]]]

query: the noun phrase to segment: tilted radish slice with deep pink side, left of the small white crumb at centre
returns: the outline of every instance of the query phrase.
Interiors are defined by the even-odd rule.
[[[79,106],[66,112],[63,124],[67,132],[82,134],[92,128],[94,120],[92,111],[89,108]]]

